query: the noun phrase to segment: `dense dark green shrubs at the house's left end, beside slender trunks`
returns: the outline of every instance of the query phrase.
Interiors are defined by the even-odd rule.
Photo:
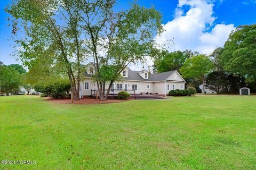
[[[66,79],[59,79],[50,84],[36,84],[34,89],[43,92],[52,98],[63,98],[69,96],[70,83]]]

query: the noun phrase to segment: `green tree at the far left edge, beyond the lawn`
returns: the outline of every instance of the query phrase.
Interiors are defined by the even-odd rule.
[[[14,93],[14,90],[19,89],[23,80],[23,74],[20,74],[14,67],[0,66],[0,86],[1,91],[7,95]]]

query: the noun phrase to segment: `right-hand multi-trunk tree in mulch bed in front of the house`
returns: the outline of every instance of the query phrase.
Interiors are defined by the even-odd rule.
[[[133,4],[129,10],[115,13],[113,4],[84,1],[79,6],[84,12],[82,27],[89,35],[85,45],[92,52],[93,80],[101,100],[107,99],[113,82],[120,79],[127,65],[151,55],[155,33],[162,32],[161,15],[154,8]]]

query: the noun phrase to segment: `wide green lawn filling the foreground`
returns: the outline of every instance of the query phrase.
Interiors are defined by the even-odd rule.
[[[102,105],[0,97],[0,169],[256,169],[256,96]]]

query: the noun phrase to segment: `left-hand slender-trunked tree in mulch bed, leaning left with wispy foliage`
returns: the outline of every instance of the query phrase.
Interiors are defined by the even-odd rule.
[[[72,96],[78,99],[81,61],[85,57],[75,2],[14,0],[6,11],[13,16],[13,33],[16,34],[20,27],[25,32],[24,38],[16,40],[20,46],[20,61],[30,69],[38,66],[38,62],[44,65],[44,61],[51,58],[52,65],[65,69]]]

